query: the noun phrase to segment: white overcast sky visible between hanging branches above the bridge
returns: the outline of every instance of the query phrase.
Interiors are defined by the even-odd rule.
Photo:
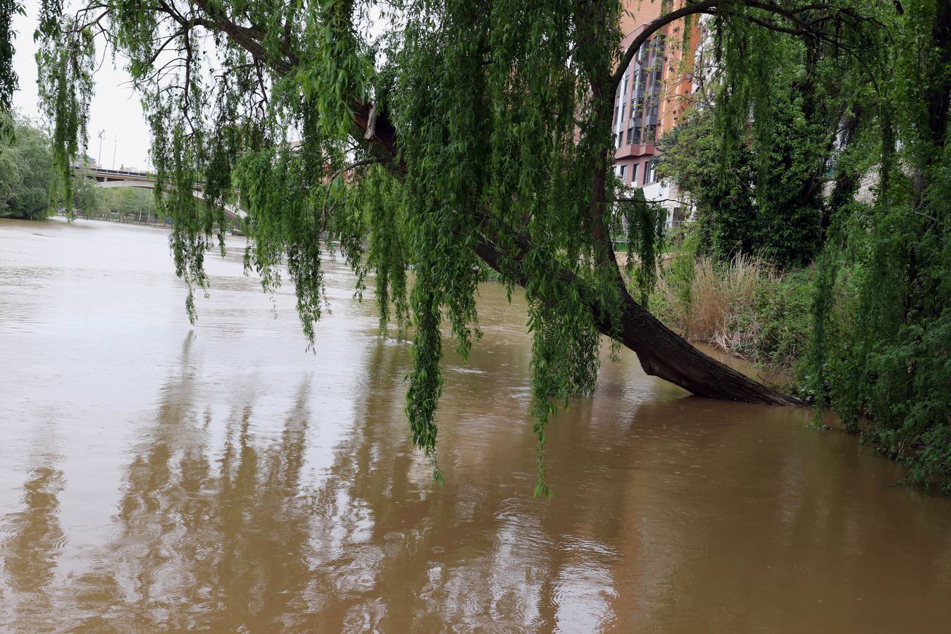
[[[20,89],[13,94],[13,106],[29,117],[39,117],[36,91],[36,60],[33,54],[33,31],[39,12],[39,0],[27,0],[27,15],[16,16],[13,29],[16,31],[16,56],[13,67],[20,77]],[[99,131],[103,135],[101,165],[111,168],[113,150],[115,166],[138,167],[145,169],[148,163],[148,144],[150,135],[146,119],[142,113],[139,97],[128,86],[128,74],[122,70],[123,61],[116,58],[115,67],[110,56],[103,60],[100,47],[99,60],[102,62],[96,72],[96,92],[89,104],[89,148],[87,154],[99,160]]]

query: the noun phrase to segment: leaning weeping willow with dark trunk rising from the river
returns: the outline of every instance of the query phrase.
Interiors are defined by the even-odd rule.
[[[592,389],[601,336],[693,394],[795,402],[703,355],[631,298],[609,229],[618,214],[635,223],[630,247],[648,267],[646,289],[655,219],[611,200],[614,94],[655,32],[706,13],[737,103],[756,101],[749,86],[769,69],[750,66],[730,36],[847,42],[868,21],[866,3],[662,4],[621,50],[622,9],[609,0],[94,0],[78,10],[45,0],[41,92],[66,169],[85,140],[92,43],[126,60],[192,318],[193,294],[207,288],[204,256],[222,246],[216,209],[235,190],[255,239],[246,265],[271,289],[286,263],[311,342],[329,244],[358,291],[373,273],[382,321],[415,333],[406,412],[434,464],[443,328],[463,356],[480,336],[480,261],[510,290],[524,287],[541,452],[555,408]],[[386,32],[374,37],[379,25]],[[206,203],[191,196],[196,180]]]

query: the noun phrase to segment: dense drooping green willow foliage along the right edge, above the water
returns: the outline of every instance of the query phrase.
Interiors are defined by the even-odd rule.
[[[951,3],[894,7],[844,117],[810,370],[820,408],[951,494]],[[875,197],[855,202],[863,156]]]

